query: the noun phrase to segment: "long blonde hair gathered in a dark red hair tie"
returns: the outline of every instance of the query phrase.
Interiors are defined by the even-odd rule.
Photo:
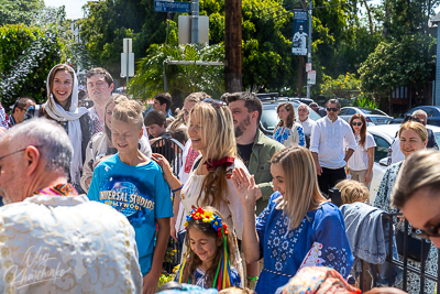
[[[226,156],[238,157],[234,127],[231,110],[227,106],[212,107],[210,104],[200,102],[189,112],[189,122],[198,118],[202,133],[202,142],[207,145],[206,159],[202,161],[221,160]],[[201,164],[199,165],[199,167]],[[204,199],[200,199],[205,193]],[[197,199],[197,205],[220,207],[228,192],[227,167],[218,166],[208,171],[202,182],[202,188]]]

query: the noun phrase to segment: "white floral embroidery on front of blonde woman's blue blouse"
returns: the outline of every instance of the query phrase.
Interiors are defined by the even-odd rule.
[[[264,211],[263,211],[264,214]],[[260,216],[260,218],[262,215]],[[264,217],[264,215],[263,215]],[[275,227],[271,230],[271,237],[267,240],[267,249],[271,252],[271,259],[275,260],[275,270],[282,272],[286,261],[292,258],[295,251],[295,244],[298,241],[298,236],[302,231],[306,218],[294,230],[288,230],[289,218],[283,215]]]

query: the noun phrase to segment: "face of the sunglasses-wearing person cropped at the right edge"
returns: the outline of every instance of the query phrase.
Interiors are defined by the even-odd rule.
[[[410,197],[400,211],[417,229],[427,230],[440,222],[440,193],[429,188],[421,188]],[[440,248],[440,238],[429,238]]]

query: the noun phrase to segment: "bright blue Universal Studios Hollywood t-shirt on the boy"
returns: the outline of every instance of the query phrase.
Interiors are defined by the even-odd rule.
[[[142,275],[148,273],[156,219],[173,216],[169,187],[157,163],[131,166],[114,154],[95,167],[87,196],[114,207],[129,219],[135,231]]]

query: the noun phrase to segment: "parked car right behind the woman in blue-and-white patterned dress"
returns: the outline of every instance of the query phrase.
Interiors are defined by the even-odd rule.
[[[271,138],[274,135],[275,126],[279,121],[278,115],[276,113],[276,108],[278,107],[278,105],[285,102],[289,102],[290,105],[293,105],[295,108],[296,118],[298,118],[298,106],[301,105],[301,102],[297,101],[295,98],[278,98],[276,100],[267,100],[262,102],[263,102],[263,113],[260,121],[260,129],[264,134]],[[312,109],[309,110],[310,110],[309,118],[311,120],[318,120],[321,118]]]

